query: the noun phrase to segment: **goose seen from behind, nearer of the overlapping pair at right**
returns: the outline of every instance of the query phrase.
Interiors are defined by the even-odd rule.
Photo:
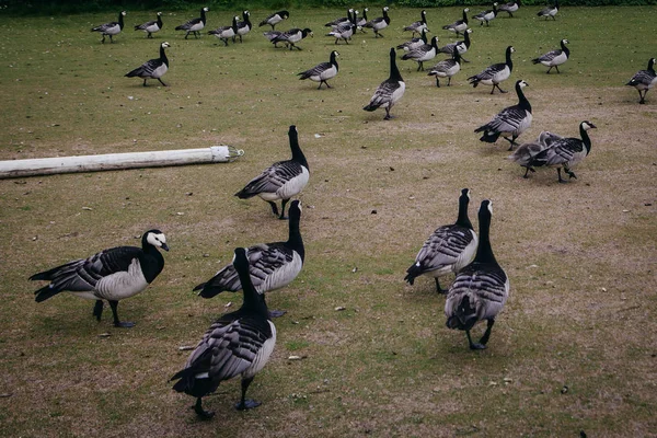
[[[495,318],[509,297],[509,278],[499,266],[491,247],[493,203],[484,199],[479,210],[479,247],[471,264],[457,274],[447,292],[445,315],[447,326],[465,331],[471,349],[484,349],[491,337]],[[470,331],[479,321],[486,321],[486,332],[473,343]]]

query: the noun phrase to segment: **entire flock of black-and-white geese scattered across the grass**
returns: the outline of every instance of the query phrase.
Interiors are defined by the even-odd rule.
[[[507,12],[509,18],[519,10],[518,2],[505,4],[493,4],[493,9],[474,15],[475,20],[486,26],[497,16],[499,12]],[[185,38],[189,35],[198,38],[200,31],[205,28],[206,12],[208,8],[200,10],[200,16],[175,27],[176,31],[185,32]],[[371,28],[374,37],[383,37],[381,31],[390,25],[391,19],[389,8],[382,9],[382,16],[368,20],[368,10],[365,9],[359,18],[358,11],[349,10],[346,18],[339,18],[326,23],[332,31],[327,36],[335,37],[335,44],[348,41],[356,32],[366,32]],[[441,60],[429,69],[428,74],[436,77],[436,84],[440,87],[439,80],[447,78],[450,85],[451,78],[460,70],[463,54],[471,47],[468,21],[468,9],[463,10],[462,18],[443,26],[443,30],[463,35],[463,41],[438,47],[437,37],[427,42],[426,11],[422,11],[420,20],[404,27],[412,32],[413,38],[390,49],[390,73],[376,90],[365,111],[385,111],[385,119],[392,118],[390,111],[403,96],[405,83],[396,66],[396,49],[403,50],[402,60],[414,60],[418,64],[417,70],[424,69],[424,62],[431,60],[439,53],[450,55],[447,60]],[[538,13],[539,16],[556,20],[558,3],[546,8]],[[124,27],[125,11],[118,15],[117,22],[106,23],[93,27],[93,32],[100,32],[105,37],[118,35]],[[135,26],[136,31],[147,33],[147,38],[163,27],[161,13],[158,12],[157,20]],[[276,31],[277,24],[289,18],[288,11],[278,11],[265,18],[260,26],[270,26],[270,31],[264,33],[275,47],[281,43],[290,50],[299,47],[299,43],[307,35],[311,35],[310,28],[292,28],[287,32]],[[234,16],[230,26],[218,27],[209,34],[220,38],[226,45],[228,41],[233,43],[239,37],[246,35],[252,24],[249,11],[242,14],[242,21]],[[415,37],[415,35],[418,35]],[[549,51],[532,60],[549,67],[548,73],[558,66],[564,65],[569,58],[566,47],[567,39],[561,41],[561,48]],[[169,61],[165,48],[169,43],[160,45],[160,58],[151,59],[139,68],[128,72],[128,77],[143,79],[157,79],[162,85],[162,76],[166,72]],[[494,64],[477,74],[468,78],[469,82],[476,88],[479,84],[492,87],[491,94],[497,89],[506,93],[499,84],[509,79],[514,65],[511,55],[512,46],[506,48],[504,62]],[[336,58],[337,50],[332,50],[327,62],[322,62],[309,70],[299,73],[299,79],[310,79],[331,88],[327,81],[338,72]],[[627,85],[635,87],[641,96],[641,103],[645,102],[645,94],[657,83],[655,76],[655,59],[650,59],[647,70],[637,72]],[[579,138],[566,138],[560,135],[543,131],[535,141],[518,145],[517,138],[531,125],[532,110],[523,89],[527,82],[517,80],[515,91],[518,96],[516,105],[504,108],[496,114],[491,122],[475,129],[482,132],[481,140],[495,142],[499,137],[509,141],[509,150],[517,147],[509,157],[510,160],[526,168],[525,177],[535,168],[554,168],[557,171],[558,182],[566,182],[562,177],[562,170],[569,178],[576,177],[573,168],[577,165],[589,153],[591,140],[588,130],[596,126],[584,120],[579,124]],[[197,285],[194,290],[204,298],[212,298],[223,291],[243,292],[242,307],[232,313],[224,314],[215,321],[198,343],[183,369],[172,377],[175,381],[173,389],[196,397],[193,406],[201,418],[209,418],[212,413],[204,410],[203,397],[215,392],[221,381],[237,376],[242,378],[242,394],[235,405],[238,410],[249,410],[260,403],[247,400],[246,391],[256,373],[263,369],[269,359],[276,343],[276,327],[273,318],[284,314],[283,311],[269,310],[265,302],[265,293],[284,288],[289,285],[301,272],[304,263],[304,246],[300,231],[301,203],[293,199],[307,186],[310,180],[308,161],[299,146],[299,135],[296,126],[290,126],[288,131],[291,158],[278,161],[267,166],[261,174],[249,181],[244,188],[234,196],[241,199],[260,197],[270,206],[272,212],[278,219],[288,219],[288,240],[285,242],[260,243],[250,247],[238,247],[234,250],[232,263],[226,265],[207,281]],[[291,200],[293,199],[293,200]],[[290,203],[288,217],[286,206]],[[280,201],[280,209],[278,208]],[[504,308],[509,295],[509,278],[497,263],[491,245],[489,230],[493,216],[493,204],[484,199],[479,208],[479,232],[469,218],[470,191],[463,188],[459,197],[459,209],[457,221],[453,224],[437,228],[420,247],[415,262],[406,269],[405,280],[413,285],[414,280],[423,275],[433,277],[436,289],[446,293],[445,314],[447,326],[464,331],[468,343],[472,349],[486,347],[489,339],[495,318]],[[141,247],[117,246],[99,252],[87,258],[74,260],[51,269],[34,274],[31,280],[48,281],[35,292],[37,302],[45,301],[60,292],[68,291],[80,298],[94,301],[93,316],[101,320],[104,301],[110,303],[113,312],[114,325],[116,327],[130,327],[132,322],[120,321],[118,318],[118,301],[132,297],[143,291],[164,267],[164,257],[160,250],[169,251],[166,238],[160,230],[148,230],[141,239]],[[454,274],[456,278],[449,288],[440,286],[439,278]],[[486,321],[487,327],[479,342],[471,337],[472,327],[480,321]]]

